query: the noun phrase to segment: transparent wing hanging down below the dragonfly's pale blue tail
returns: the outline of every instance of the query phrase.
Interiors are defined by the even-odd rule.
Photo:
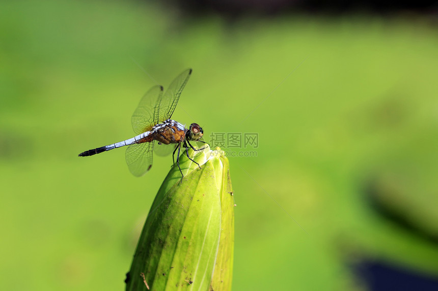
[[[152,150],[154,141],[131,144],[126,149],[126,164],[132,175],[143,176],[152,167]]]

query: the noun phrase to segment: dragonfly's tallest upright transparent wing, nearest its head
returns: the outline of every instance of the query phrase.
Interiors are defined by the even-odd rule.
[[[190,74],[191,69],[185,70],[173,80],[169,88],[164,90],[158,107],[158,121],[165,121],[172,117],[176,105],[178,104],[179,96],[185,84],[187,84]]]

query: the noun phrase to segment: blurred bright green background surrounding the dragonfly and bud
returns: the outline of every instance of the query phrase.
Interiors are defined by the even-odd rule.
[[[133,136],[130,116],[155,84],[133,60],[165,88],[194,69],[173,118],[201,124],[205,140],[259,135],[257,157],[230,157],[234,290],[363,290],[350,268],[363,258],[438,276],[427,18],[1,6],[0,289],[124,289],[172,159],[135,178],[124,149],[77,154]]]

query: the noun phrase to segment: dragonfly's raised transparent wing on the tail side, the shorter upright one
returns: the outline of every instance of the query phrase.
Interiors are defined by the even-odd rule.
[[[132,129],[136,135],[150,131],[158,123],[158,104],[163,93],[162,86],[154,86],[146,92],[131,117]]]

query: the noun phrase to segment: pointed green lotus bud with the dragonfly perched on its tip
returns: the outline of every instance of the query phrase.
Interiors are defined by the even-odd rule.
[[[179,159],[184,178],[174,165],[162,183],[135,250],[126,290],[208,291],[218,266],[225,270],[218,278],[227,280],[222,285],[228,289],[222,290],[231,287],[234,229],[228,228],[233,215],[227,215],[227,232],[221,226],[221,197],[224,189],[231,189],[228,159],[209,148],[190,150],[189,155],[201,169],[184,153]],[[228,236],[224,242],[223,234]]]

